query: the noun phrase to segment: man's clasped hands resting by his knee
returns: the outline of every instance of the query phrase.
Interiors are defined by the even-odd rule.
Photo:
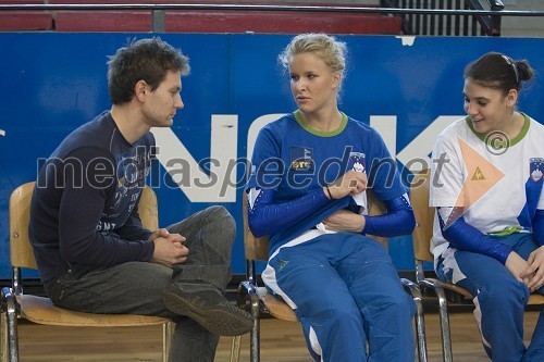
[[[160,228],[149,239],[154,242],[151,262],[173,267],[187,261],[189,249],[183,245],[185,237],[180,234],[170,234],[165,228]]]

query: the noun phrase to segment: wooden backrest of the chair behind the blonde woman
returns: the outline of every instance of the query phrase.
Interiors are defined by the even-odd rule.
[[[249,229],[249,224],[247,221],[247,192],[243,191],[243,202],[242,212],[244,215],[244,250],[246,252],[247,260],[269,260],[269,237],[263,236],[256,238],[251,230]],[[369,208],[369,215],[381,215],[387,211],[383,201],[378,199],[371,189],[367,190],[367,202]],[[370,238],[382,244],[385,249],[387,249],[387,238],[369,235]]]

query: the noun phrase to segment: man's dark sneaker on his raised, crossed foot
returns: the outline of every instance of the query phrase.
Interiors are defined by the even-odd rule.
[[[230,303],[210,284],[174,284],[166,288],[163,298],[169,310],[190,317],[215,335],[244,335],[254,325],[251,314]]]

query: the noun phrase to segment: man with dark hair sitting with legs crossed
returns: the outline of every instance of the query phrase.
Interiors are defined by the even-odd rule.
[[[224,297],[233,217],[211,207],[148,230],[137,214],[153,158],[149,130],[170,127],[184,107],[188,58],[152,38],[119,49],[108,66],[111,110],[70,134],[38,175],[29,235],[40,278],[62,308],[170,317],[169,360],[213,361],[220,335],[252,325]]]

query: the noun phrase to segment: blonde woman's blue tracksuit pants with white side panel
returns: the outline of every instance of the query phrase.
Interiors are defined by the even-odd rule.
[[[379,242],[322,235],[281,248],[262,275],[295,309],[317,361],[413,361],[415,303]]]

